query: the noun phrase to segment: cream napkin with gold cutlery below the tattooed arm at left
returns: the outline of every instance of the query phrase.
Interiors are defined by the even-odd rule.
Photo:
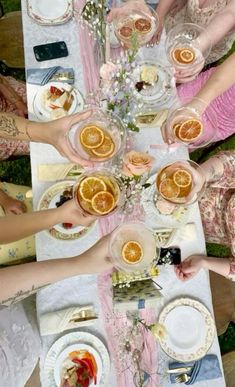
[[[65,178],[77,178],[83,172],[81,165],[67,164],[41,164],[38,166],[38,180],[56,181]]]

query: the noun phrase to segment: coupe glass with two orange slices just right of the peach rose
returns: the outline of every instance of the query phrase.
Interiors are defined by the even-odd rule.
[[[195,203],[206,188],[205,174],[192,160],[165,165],[156,176],[156,188],[166,201],[187,206]]]

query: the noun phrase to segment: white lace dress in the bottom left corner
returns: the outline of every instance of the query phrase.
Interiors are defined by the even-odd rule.
[[[40,349],[32,299],[0,307],[0,387],[24,387]]]

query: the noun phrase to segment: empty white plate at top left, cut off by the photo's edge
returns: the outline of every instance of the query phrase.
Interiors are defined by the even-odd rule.
[[[73,16],[73,0],[27,0],[27,11],[38,24],[63,24]]]

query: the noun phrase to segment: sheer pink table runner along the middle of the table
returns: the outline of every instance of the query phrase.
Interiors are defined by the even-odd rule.
[[[75,7],[77,10],[81,10],[84,4],[84,0],[77,0]],[[97,90],[99,84],[99,68],[97,66],[97,58],[94,55],[95,43],[94,39],[89,36],[87,27],[82,26],[79,21],[77,22],[77,28],[86,93],[89,94]],[[112,50],[112,57],[116,59],[119,53],[119,49]],[[139,206],[136,206],[130,215],[116,213],[103,218],[99,221],[101,236],[110,233],[121,223],[137,219],[143,220],[143,212]],[[98,277],[98,290],[102,307],[102,319],[108,336],[108,347],[117,371],[117,385],[118,387],[133,386],[134,371],[132,367],[128,370],[123,368],[118,352],[119,345],[121,344],[118,332],[127,331],[130,326],[130,320],[128,320],[125,313],[113,312],[110,272]],[[149,324],[156,321],[156,313],[153,309],[143,310],[140,313],[140,317]],[[148,386],[153,387],[157,385],[157,344],[153,335],[145,329],[142,330],[142,338],[144,350],[142,352],[141,368],[150,375]]]

